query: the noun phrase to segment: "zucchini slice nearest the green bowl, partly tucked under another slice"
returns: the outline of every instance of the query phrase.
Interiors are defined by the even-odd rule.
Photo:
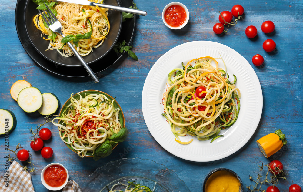
[[[60,101],[54,93],[43,93],[43,103],[38,112],[41,115],[52,115],[57,112],[60,106]]]

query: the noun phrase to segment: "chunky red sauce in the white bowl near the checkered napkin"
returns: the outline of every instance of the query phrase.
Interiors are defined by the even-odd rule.
[[[45,183],[51,187],[60,187],[66,181],[66,171],[60,165],[52,165],[44,172]]]

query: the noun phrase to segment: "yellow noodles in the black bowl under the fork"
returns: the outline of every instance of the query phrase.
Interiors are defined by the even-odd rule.
[[[103,0],[94,0],[92,2],[103,3]],[[76,46],[73,42],[72,45],[75,47],[80,55],[85,56],[93,52],[93,48],[97,48],[105,40],[106,35],[109,32],[109,21],[107,18],[108,9],[99,8],[87,5],[78,5],[73,3],[59,2],[55,4],[52,9],[57,12],[56,18],[62,25],[62,33],[67,35],[85,34],[92,31],[91,38],[80,39]],[[48,49],[56,49],[62,56],[69,57],[74,55],[72,49],[69,48],[65,43],[61,43],[62,36],[52,32],[46,23],[44,23],[41,14],[34,17],[34,24],[42,34],[48,36],[49,41]]]

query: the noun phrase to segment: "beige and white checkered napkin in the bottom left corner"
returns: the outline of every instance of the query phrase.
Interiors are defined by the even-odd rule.
[[[12,162],[0,179],[0,192],[34,192],[31,175],[17,161]]]

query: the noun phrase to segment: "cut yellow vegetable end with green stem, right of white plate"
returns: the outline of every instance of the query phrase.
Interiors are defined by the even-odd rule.
[[[286,143],[285,134],[283,134],[280,129],[276,130],[275,133],[269,133],[257,140],[257,144],[265,157],[270,157],[278,152]]]

